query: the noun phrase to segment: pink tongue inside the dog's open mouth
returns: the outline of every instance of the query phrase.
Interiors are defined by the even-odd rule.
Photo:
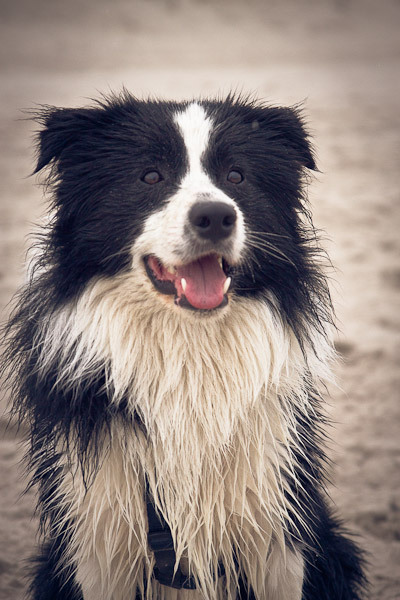
[[[186,279],[182,293],[195,308],[212,309],[224,299],[226,275],[215,255],[204,256],[188,265],[177,268],[177,289],[181,290],[181,279]]]

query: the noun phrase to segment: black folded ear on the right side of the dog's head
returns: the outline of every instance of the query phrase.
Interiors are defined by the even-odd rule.
[[[266,110],[269,112],[268,128],[274,130],[276,137],[287,149],[288,155],[307,169],[316,170],[314,153],[301,110],[286,107]]]

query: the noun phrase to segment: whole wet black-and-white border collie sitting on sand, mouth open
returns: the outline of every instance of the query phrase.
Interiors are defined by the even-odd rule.
[[[35,115],[49,219],[7,335],[35,600],[355,600],[324,492],[334,352],[298,107]]]

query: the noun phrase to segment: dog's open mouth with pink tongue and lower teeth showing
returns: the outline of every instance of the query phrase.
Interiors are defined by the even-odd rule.
[[[147,275],[161,294],[175,296],[175,304],[191,310],[213,310],[228,304],[230,267],[217,254],[207,254],[185,265],[167,269],[156,256],[144,258]]]

